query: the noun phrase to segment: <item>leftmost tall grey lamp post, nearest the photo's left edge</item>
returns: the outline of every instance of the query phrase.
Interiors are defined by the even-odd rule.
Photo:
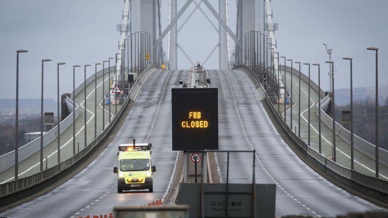
[[[16,50],[15,180],[18,179],[19,174],[19,53],[27,51],[26,49]]]

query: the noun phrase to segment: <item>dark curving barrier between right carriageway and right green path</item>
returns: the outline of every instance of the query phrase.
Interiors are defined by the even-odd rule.
[[[235,69],[243,70],[250,77],[250,79],[253,80],[254,83],[260,84],[255,84],[256,88],[265,90],[251,69],[246,66],[238,66]],[[268,105],[271,114],[274,116],[275,122],[280,125],[281,130],[285,133],[286,137],[292,142],[295,148],[298,149],[308,160],[310,160],[310,162],[307,162],[309,166],[314,165],[333,181],[339,182],[349,187],[350,190],[355,190],[358,193],[362,193],[363,195],[376,199],[377,202],[383,202],[385,204],[388,203],[388,181],[370,177],[349,168],[343,167],[318,153],[313,148],[309,147],[302,139],[300,139],[292,130],[288,128],[287,124],[276,112],[275,107],[271,103],[265,91],[264,95],[264,101]],[[324,103],[328,104],[327,98],[324,98],[323,100]]]

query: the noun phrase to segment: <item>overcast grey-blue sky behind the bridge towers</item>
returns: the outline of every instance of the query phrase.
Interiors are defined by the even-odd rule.
[[[218,1],[210,1],[218,9]],[[178,8],[184,1],[178,1]],[[275,33],[277,48],[282,56],[295,61],[321,63],[323,87],[328,87],[327,54],[323,42],[333,49],[337,69],[336,88],[349,87],[349,63],[342,57],[354,57],[354,86],[374,86],[374,53],[365,48],[379,47],[379,81],[388,84],[387,64],[388,1],[374,0],[272,0],[273,20],[278,23]],[[184,13],[183,23],[193,4]],[[216,19],[202,4],[205,13]],[[235,31],[235,1],[229,1],[229,24]],[[0,0],[0,98],[15,98],[16,49],[29,52],[20,57],[20,98],[40,97],[40,59],[51,58],[44,68],[45,98],[55,98],[57,92],[57,62],[61,66],[61,93],[72,88],[72,65],[94,64],[113,57],[117,52],[122,21],[123,1],[103,0]],[[168,1],[162,0],[162,28],[167,26]],[[218,24],[216,25],[218,26]],[[166,39],[165,41],[165,49]],[[194,61],[203,62],[218,42],[213,27],[199,10],[178,35],[178,43]],[[233,45],[231,40],[231,45]],[[178,68],[188,69],[190,63],[178,51]],[[218,68],[218,50],[205,65]],[[307,68],[302,66],[307,74]],[[311,75],[316,81],[316,69]],[[77,70],[76,85],[83,80],[83,69]],[[94,73],[89,67],[87,75]]]

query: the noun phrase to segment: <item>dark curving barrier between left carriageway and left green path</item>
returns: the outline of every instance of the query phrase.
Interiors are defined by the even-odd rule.
[[[130,99],[136,98],[143,83],[156,69],[156,67],[152,66],[144,70],[144,72],[135,82],[133,86],[134,88],[130,90],[130,98],[126,99],[126,101],[118,111],[117,115],[113,118],[111,124],[84,149],[82,149],[69,159],[58,163],[58,165],[52,168],[25,178],[0,184],[0,198],[2,199],[2,201],[0,201],[0,207],[6,206],[12,202],[39,192],[40,190],[54,184],[55,182],[64,178],[66,175],[76,170],[101,145],[100,142],[109,136],[109,133],[116,126],[116,123],[121,118],[123,112],[129,104]]]

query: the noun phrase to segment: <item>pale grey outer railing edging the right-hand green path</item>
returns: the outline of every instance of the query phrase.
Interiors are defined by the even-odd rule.
[[[323,121],[324,124],[326,124],[326,126],[329,128],[329,129],[333,129],[332,128],[332,123],[333,123],[333,119],[328,116],[325,111],[327,109],[327,107],[329,106],[329,102],[330,102],[331,98],[329,95],[327,95],[325,98],[323,98],[321,100],[321,120]],[[319,113],[319,107],[318,107],[318,103],[315,105],[315,114],[318,115]],[[345,129],[341,124],[338,124],[337,122],[335,122],[335,133],[340,136],[342,139],[344,139],[344,141],[346,141],[347,143],[350,144],[350,131]],[[353,134],[354,137],[353,137],[353,142],[354,142],[354,147],[361,151],[362,153],[368,155],[369,157],[371,157],[372,159],[375,159],[375,151],[376,151],[376,146],[374,146],[374,144],[370,143],[370,142],[367,142],[365,141],[364,139],[362,139],[361,137],[357,136],[356,134]],[[388,165],[388,151],[387,150],[384,150],[382,148],[379,148],[379,158],[380,158],[380,162],[383,163],[384,165]]]

